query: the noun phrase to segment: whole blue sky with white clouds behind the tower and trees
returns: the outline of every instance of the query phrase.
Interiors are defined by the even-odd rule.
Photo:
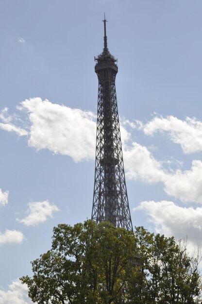
[[[0,304],[31,304],[17,278],[91,217],[104,12],[133,225],[201,242],[201,0],[1,1]]]

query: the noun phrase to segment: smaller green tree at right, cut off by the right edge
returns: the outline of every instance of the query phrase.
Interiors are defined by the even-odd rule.
[[[154,235],[137,227],[140,285],[131,285],[137,298],[144,304],[202,303],[202,280],[198,270],[200,254],[189,256],[186,243],[174,237]]]

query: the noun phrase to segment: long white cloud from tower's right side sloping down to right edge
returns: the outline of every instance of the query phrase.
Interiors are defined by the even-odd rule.
[[[180,199],[182,202],[202,203],[202,161],[193,160],[191,169],[166,171],[163,164],[157,161],[152,153],[144,146],[133,143],[123,151],[126,176],[129,179],[143,182],[164,184],[164,190],[169,196]],[[169,161],[168,165],[169,165]],[[175,162],[177,167],[182,163]]]

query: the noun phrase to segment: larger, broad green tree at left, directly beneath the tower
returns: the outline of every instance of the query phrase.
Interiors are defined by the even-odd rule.
[[[135,246],[133,232],[109,222],[60,224],[51,250],[32,262],[33,278],[21,281],[38,304],[124,303]]]

